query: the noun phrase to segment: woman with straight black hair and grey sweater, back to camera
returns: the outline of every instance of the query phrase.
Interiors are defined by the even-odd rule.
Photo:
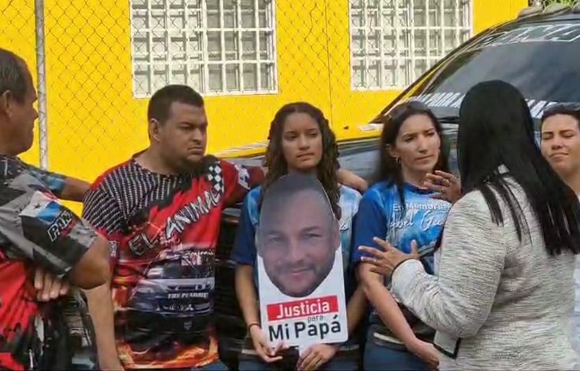
[[[580,205],[542,157],[522,94],[472,87],[459,111],[463,196],[449,212],[437,272],[386,241],[361,250],[413,313],[437,329],[440,370],[571,370]]]

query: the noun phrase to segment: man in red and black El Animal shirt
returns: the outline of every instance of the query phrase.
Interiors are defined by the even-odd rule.
[[[112,293],[87,296],[101,368],[226,370],[213,323],[219,222],[263,170],[204,155],[204,101],[190,87],[160,89],[148,118],[149,148],[106,171],[85,198],[83,216],[113,242]]]

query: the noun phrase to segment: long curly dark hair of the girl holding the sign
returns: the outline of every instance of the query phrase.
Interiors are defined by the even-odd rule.
[[[306,102],[295,102],[283,105],[281,109],[276,112],[274,120],[270,124],[270,133],[268,134],[268,147],[266,150],[265,166],[268,166],[266,179],[262,184],[261,200],[265,194],[266,189],[275,182],[278,178],[288,174],[288,163],[284,157],[282,150],[282,139],[284,134],[284,124],[290,114],[304,113],[312,117],[320,129],[322,135],[322,158],[317,165],[317,177],[322,183],[322,187],[326,190],[329,196],[332,210],[336,218],[340,219],[340,191],[338,187],[338,146],[336,145],[336,137],[330,128],[328,119],[317,107]]]

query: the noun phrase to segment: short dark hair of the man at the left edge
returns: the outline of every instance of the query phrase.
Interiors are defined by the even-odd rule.
[[[26,71],[24,60],[15,53],[0,48],[0,95],[12,92],[19,103],[26,97]]]

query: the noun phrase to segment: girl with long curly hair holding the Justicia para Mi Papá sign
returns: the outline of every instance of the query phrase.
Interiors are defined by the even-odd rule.
[[[276,370],[285,365],[297,370],[358,370],[361,354],[358,330],[365,315],[366,301],[362,288],[358,287],[347,267],[352,248],[351,225],[361,195],[338,184],[335,135],[318,108],[303,102],[284,105],[272,121],[269,139],[266,152],[269,171],[263,185],[250,191],[245,199],[232,252],[237,264],[235,289],[249,335],[240,355],[239,369]],[[277,179],[292,172],[317,175],[340,221],[350,335],[345,344],[313,345],[297,358],[275,349],[260,327],[255,243],[263,192]]]

